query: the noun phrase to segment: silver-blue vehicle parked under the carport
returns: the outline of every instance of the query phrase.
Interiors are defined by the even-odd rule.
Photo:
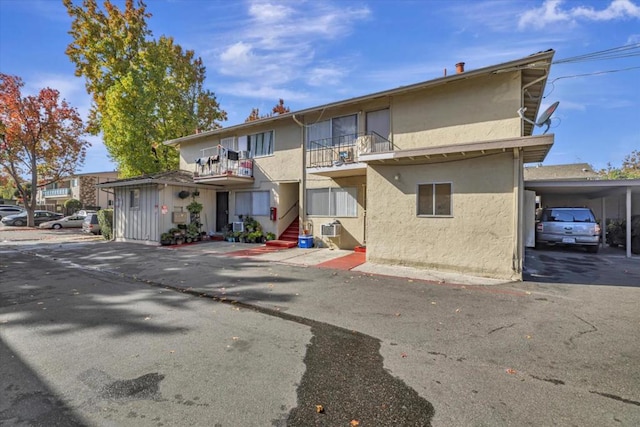
[[[597,253],[600,224],[589,208],[544,208],[536,223],[536,248],[546,244],[583,246]]]

